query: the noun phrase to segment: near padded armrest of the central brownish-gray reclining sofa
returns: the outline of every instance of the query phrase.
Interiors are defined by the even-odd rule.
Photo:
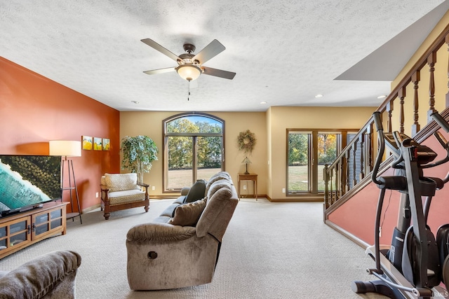
[[[168,223],[142,223],[128,230],[126,242],[179,242],[196,235],[191,226],[171,225]]]

